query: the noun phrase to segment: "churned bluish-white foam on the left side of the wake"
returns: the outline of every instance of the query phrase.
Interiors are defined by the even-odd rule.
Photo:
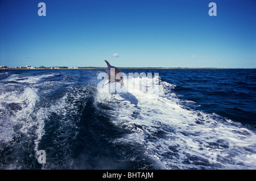
[[[71,81],[65,76],[51,79],[56,75],[59,74],[35,76],[12,74],[2,80],[5,83],[2,83],[4,86],[0,87],[0,151],[5,154],[7,153],[6,150],[10,149],[11,154],[8,156],[9,161],[6,161],[6,165],[1,165],[1,168],[26,168],[27,165],[23,163],[22,158],[24,153],[31,153],[30,157],[35,157],[36,162],[36,158],[39,157],[39,150],[46,149],[48,155],[54,152],[55,148],[43,148],[40,142],[46,134],[46,124],[48,121],[55,122],[56,120],[52,120],[55,117],[59,120],[56,121],[56,124],[60,124],[56,126],[56,129],[59,129],[56,130],[59,136],[53,136],[52,144],[56,144],[56,148],[61,144],[69,150],[71,143],[66,140],[60,142],[58,139],[60,137],[71,137],[71,140],[76,138],[76,134],[78,134],[77,123],[81,116],[79,111],[86,103],[82,100],[86,97],[88,87],[68,87],[63,94],[60,91],[61,94],[54,97],[56,90],[59,88],[61,90],[63,85],[70,85],[69,81]],[[6,82],[8,82],[7,86],[5,86]],[[30,85],[23,86],[16,83],[28,83]],[[31,147],[34,150],[31,150]],[[34,154],[32,154],[33,151]],[[2,159],[4,161],[7,158]],[[68,155],[65,155],[63,159],[66,162],[72,162]],[[58,167],[55,166],[54,161],[52,164],[50,162],[48,157],[48,167],[43,166],[43,168]]]

